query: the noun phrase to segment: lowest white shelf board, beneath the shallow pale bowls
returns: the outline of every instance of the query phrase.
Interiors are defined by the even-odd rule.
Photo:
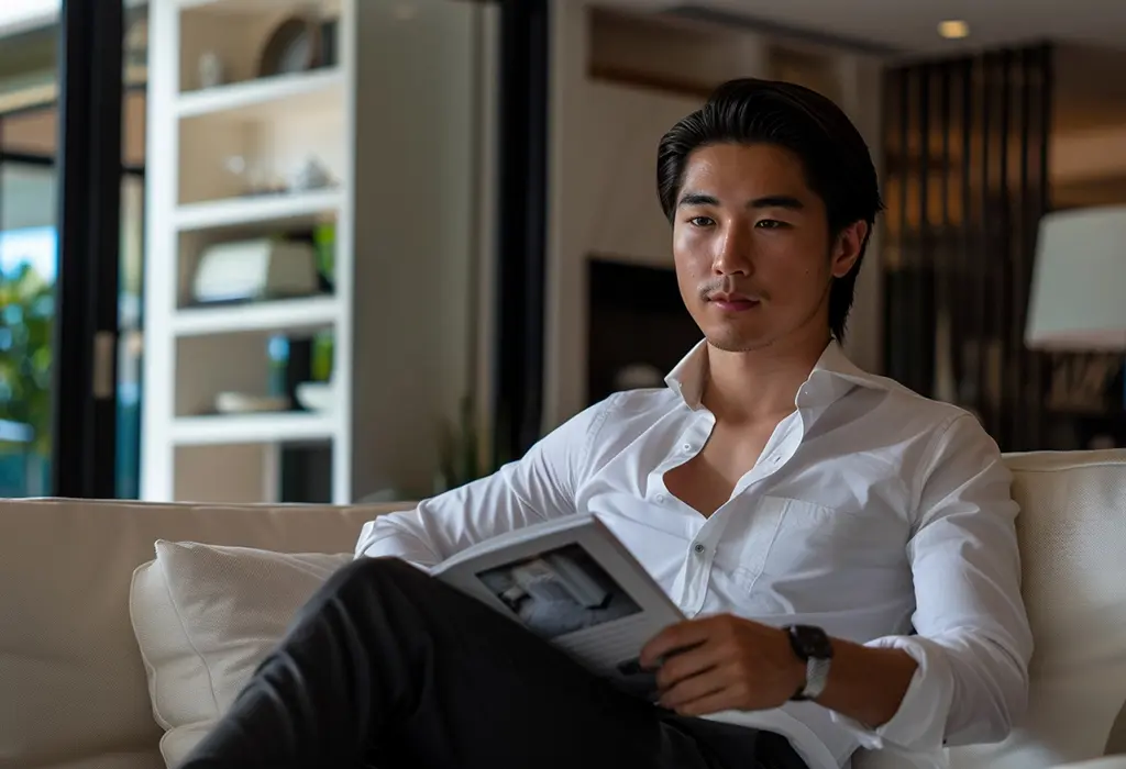
[[[181,446],[328,441],[333,434],[331,416],[306,411],[220,414],[172,422],[172,442]]]

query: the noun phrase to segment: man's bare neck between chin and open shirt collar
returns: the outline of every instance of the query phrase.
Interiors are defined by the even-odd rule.
[[[799,344],[771,344],[745,352],[726,352],[709,344],[704,405],[726,423],[781,419],[794,410],[797,390],[828,343],[828,335],[819,335]]]

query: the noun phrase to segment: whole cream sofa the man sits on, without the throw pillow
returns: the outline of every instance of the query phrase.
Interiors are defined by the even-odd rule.
[[[1006,743],[951,751],[951,766],[1126,753],[1126,451],[1009,462],[1037,641],[1031,707]],[[386,509],[0,503],[0,769],[162,769],[128,615],[155,540],[342,553]]]

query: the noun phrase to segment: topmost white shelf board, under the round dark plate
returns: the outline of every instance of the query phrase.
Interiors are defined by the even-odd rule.
[[[180,94],[181,118],[214,116],[227,120],[276,120],[284,115],[343,109],[343,74],[338,67],[277,75]]]

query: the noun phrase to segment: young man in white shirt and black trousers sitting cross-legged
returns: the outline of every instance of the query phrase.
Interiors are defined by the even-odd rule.
[[[368,524],[358,553],[393,558],[330,580],[188,767],[831,769],[1008,733],[1031,652],[1009,473],[973,417],[838,345],[881,208],[864,141],[816,93],[734,81],[661,141],[658,188],[706,337],[669,387]],[[578,510],[690,617],[643,650],[660,706],[403,564]]]

